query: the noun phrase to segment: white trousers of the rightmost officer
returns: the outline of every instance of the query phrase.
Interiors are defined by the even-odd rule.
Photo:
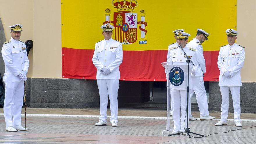
[[[240,86],[220,86],[221,90],[221,121],[226,122],[228,116],[229,90],[231,91],[234,107],[234,122],[240,121]]]

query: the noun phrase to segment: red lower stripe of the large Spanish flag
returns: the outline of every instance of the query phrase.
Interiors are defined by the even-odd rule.
[[[74,79],[96,79],[97,69],[93,65],[94,50],[62,48],[62,76]],[[219,51],[204,51],[206,73],[204,81],[218,81],[217,66]],[[123,51],[120,65],[120,80],[166,81],[164,68],[167,50]],[[216,80],[217,79],[217,80]]]

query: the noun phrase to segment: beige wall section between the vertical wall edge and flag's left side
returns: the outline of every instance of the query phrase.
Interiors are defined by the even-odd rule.
[[[61,1],[34,0],[33,78],[61,78]]]

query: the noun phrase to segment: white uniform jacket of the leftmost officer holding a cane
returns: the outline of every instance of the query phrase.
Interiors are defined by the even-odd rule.
[[[10,42],[3,44],[2,56],[5,65],[3,81],[19,82],[21,80],[19,73],[22,70],[28,71],[29,68],[25,43],[11,38]]]

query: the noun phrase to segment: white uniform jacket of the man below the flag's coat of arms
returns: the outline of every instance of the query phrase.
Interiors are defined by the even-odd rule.
[[[119,65],[123,60],[122,43],[112,38],[95,44],[93,64],[97,67],[96,79],[120,79]],[[103,75],[102,68],[108,67],[110,74]]]

